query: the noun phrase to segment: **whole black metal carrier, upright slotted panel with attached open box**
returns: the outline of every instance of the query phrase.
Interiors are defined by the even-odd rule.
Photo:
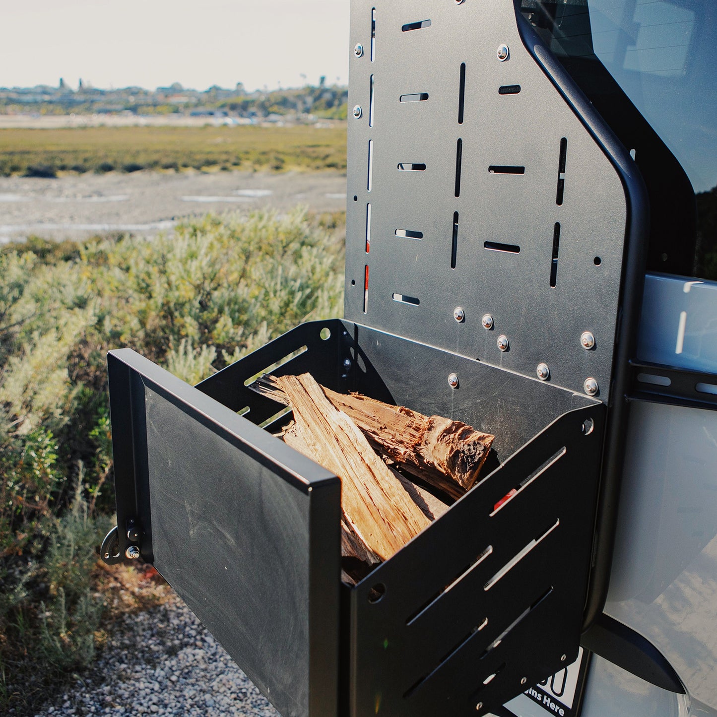
[[[602,610],[644,190],[511,0],[353,0],[350,48],[345,318],[196,388],[111,352],[103,553],[140,551],[285,717],[482,715]],[[259,427],[281,407],[247,384],[287,356],[275,374],[496,435],[480,483],[356,587],[340,481]]]

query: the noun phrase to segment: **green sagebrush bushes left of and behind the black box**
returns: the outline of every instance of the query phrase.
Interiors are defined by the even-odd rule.
[[[0,707],[28,651],[54,670],[92,657],[91,574],[113,508],[107,351],[196,383],[341,315],[342,229],[297,209],[0,252]]]

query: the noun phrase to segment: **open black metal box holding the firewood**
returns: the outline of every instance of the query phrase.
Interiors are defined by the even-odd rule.
[[[276,364],[496,435],[480,483],[354,588],[338,478],[257,426],[290,418],[247,387]],[[196,388],[126,349],[109,370],[113,553],[138,545],[283,715],[483,714],[574,659],[601,402],[344,320]]]

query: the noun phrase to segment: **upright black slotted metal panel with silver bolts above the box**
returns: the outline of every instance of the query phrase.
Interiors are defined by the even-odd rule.
[[[346,318],[607,400],[625,189],[512,0],[352,0],[351,48]]]

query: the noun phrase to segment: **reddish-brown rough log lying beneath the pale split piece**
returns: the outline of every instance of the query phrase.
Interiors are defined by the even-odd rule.
[[[261,376],[252,389],[290,405],[281,380]],[[452,498],[460,498],[473,488],[495,440],[495,436],[460,421],[424,416],[361,394],[338,394],[326,388],[323,391],[334,407],[356,423],[376,450]]]

